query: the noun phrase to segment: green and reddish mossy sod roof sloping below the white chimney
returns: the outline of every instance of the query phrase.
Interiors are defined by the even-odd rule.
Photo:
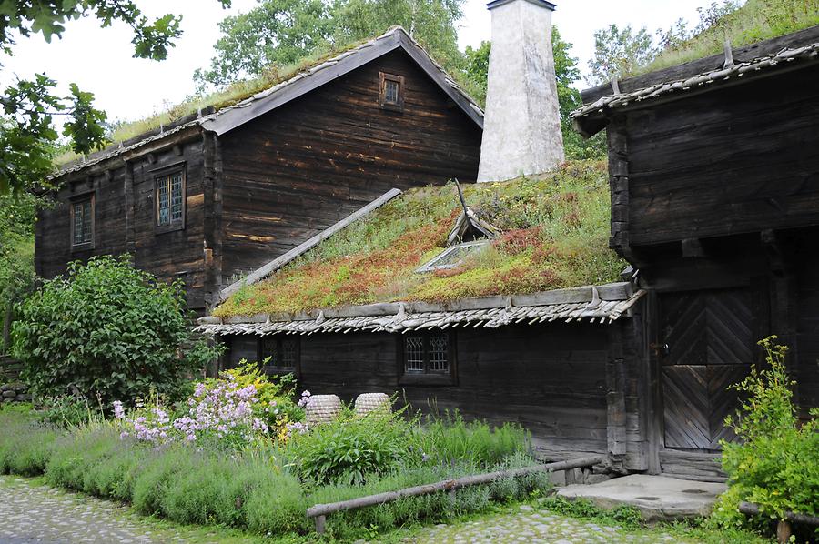
[[[605,163],[571,162],[541,176],[465,186],[464,194],[503,235],[459,267],[415,272],[444,250],[461,208],[452,184],[411,189],[242,287],[214,315],[532,293],[616,281],[626,265],[608,247]]]

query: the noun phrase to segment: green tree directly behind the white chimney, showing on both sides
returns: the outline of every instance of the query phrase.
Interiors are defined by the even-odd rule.
[[[554,74],[557,79],[558,105],[566,157],[570,159],[602,158],[606,154],[604,133],[584,140],[571,128],[569,114],[582,105],[580,91],[572,86],[580,79],[581,73],[577,67],[577,58],[570,54],[571,44],[563,41],[557,26],[551,27],[551,49],[554,55]],[[480,99],[480,102],[484,102],[486,97],[490,51],[491,44],[486,41],[481,42],[476,49],[472,47],[466,49],[465,72],[472,82],[471,88],[476,89],[474,95]]]

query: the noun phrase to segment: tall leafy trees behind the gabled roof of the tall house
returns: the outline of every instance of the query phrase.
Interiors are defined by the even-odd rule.
[[[200,90],[261,76],[308,55],[340,48],[404,26],[441,63],[460,67],[455,23],[463,0],[262,0],[220,23],[222,36]]]

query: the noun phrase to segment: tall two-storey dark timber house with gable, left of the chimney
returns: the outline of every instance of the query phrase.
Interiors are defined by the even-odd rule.
[[[483,113],[401,28],[229,107],[64,167],[36,226],[35,268],[130,253],[182,279],[204,312],[220,288],[391,187],[474,181]]]

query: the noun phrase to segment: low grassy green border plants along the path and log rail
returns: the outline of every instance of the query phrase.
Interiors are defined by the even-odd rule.
[[[533,462],[523,453],[526,435],[521,428],[501,428],[494,435],[483,423],[450,418],[419,429],[416,432],[422,436],[416,437],[407,426],[410,423],[398,427],[404,429],[403,448],[419,453],[405,454],[399,467],[382,474],[368,473],[359,485],[316,485],[298,478],[298,459],[292,455],[298,448],[238,451],[181,444],[151,448],[121,440],[117,424],[98,417],[79,426],[57,428],[39,423],[33,413],[0,409],[0,428],[8,430],[0,435],[0,474],[45,475],[51,486],[125,502],[139,514],[178,524],[300,541],[302,536],[308,539],[313,529],[305,517],[312,504]],[[368,432],[377,438],[374,430],[358,434]],[[441,436],[447,434],[452,436]],[[301,439],[313,438],[324,444],[320,433]],[[415,444],[429,445],[430,455],[421,458]],[[446,456],[440,448],[447,444],[460,444],[460,448]],[[440,493],[342,512],[329,517],[329,537],[359,539],[370,537],[373,528],[387,530],[407,523],[452,519],[523,499],[535,489],[542,492],[548,487],[541,474],[465,489],[454,503]]]

